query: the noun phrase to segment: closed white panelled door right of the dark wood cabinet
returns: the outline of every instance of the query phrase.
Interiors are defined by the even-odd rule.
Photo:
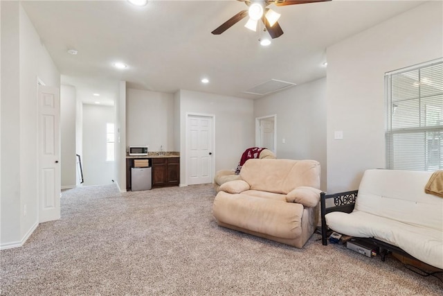
[[[213,182],[213,117],[188,115],[188,184]]]

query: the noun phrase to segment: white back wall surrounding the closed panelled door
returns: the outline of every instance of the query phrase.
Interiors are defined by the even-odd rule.
[[[178,98],[178,97],[179,98]],[[174,103],[180,104],[180,184],[186,183],[186,114],[215,115],[215,171],[236,168],[246,148],[255,143],[253,101],[244,98],[181,89]]]

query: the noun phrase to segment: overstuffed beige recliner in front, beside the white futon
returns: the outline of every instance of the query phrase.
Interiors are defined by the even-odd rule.
[[[294,247],[305,245],[318,223],[320,164],[249,159],[240,177],[222,184],[215,196],[218,225]]]

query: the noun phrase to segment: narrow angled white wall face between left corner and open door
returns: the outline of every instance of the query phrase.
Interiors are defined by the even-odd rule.
[[[60,73],[42,44],[37,31],[20,5],[20,186],[21,233],[36,227],[38,217],[37,190],[37,77],[46,85],[60,89]],[[58,131],[60,132],[60,130]],[[35,153],[29,153],[35,147]],[[26,205],[27,214],[24,215]]]

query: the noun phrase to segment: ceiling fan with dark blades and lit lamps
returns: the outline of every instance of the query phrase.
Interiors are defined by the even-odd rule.
[[[224,31],[228,30],[231,26],[237,24],[237,22],[241,21],[249,15],[249,20],[246,23],[245,27],[255,31],[257,28],[257,21],[262,19],[263,24],[268,31],[269,35],[272,38],[280,37],[283,34],[283,30],[278,24],[278,18],[280,14],[267,8],[270,4],[274,3],[276,6],[287,6],[287,5],[295,5],[295,4],[303,4],[303,3],[314,3],[314,2],[323,2],[323,1],[331,1],[331,0],[237,0],[244,2],[249,8],[247,10],[242,10],[234,15],[227,21],[225,21],[221,26],[216,28],[213,33],[214,35],[220,35]]]

